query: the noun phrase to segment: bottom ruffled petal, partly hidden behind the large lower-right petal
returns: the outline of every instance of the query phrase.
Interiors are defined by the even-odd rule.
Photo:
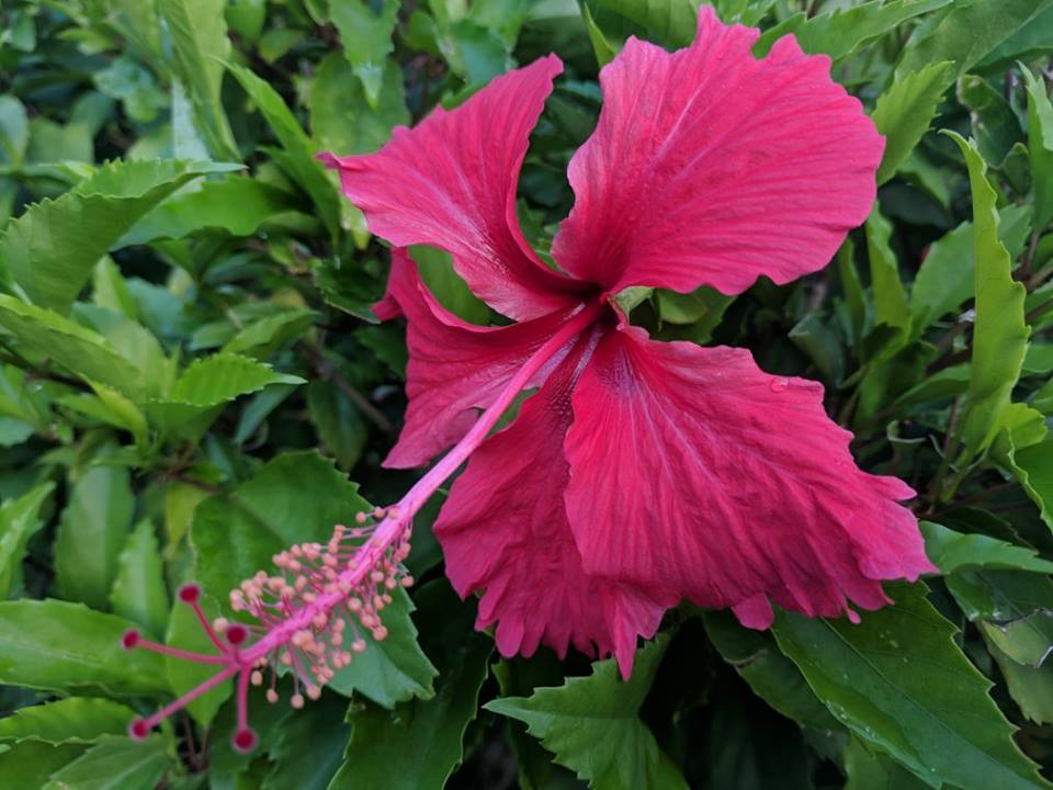
[[[676,597],[581,569],[563,504],[563,439],[573,379],[591,342],[579,341],[519,419],[475,451],[434,529],[457,592],[486,590],[476,628],[498,623],[502,655],[529,656],[543,642],[562,657],[574,644],[613,653],[627,677],[637,636],[655,633]]]

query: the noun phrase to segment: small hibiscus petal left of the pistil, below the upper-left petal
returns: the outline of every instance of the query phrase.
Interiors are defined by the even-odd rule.
[[[516,371],[566,318],[554,313],[507,327],[480,327],[448,312],[435,301],[406,253],[392,252],[388,293],[376,311],[406,315],[409,364],[406,395],[409,406],[398,443],[385,466],[421,466],[460,440],[505,387]],[[380,308],[383,306],[383,311]],[[558,363],[543,368],[536,386]]]

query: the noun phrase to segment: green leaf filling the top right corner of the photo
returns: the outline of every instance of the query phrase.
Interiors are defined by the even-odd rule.
[[[958,77],[1051,5],[1051,0],[954,3],[938,24],[912,37],[896,66],[896,76],[917,71],[930,63],[953,60]]]

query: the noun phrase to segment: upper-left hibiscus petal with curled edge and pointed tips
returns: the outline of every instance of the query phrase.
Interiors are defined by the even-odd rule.
[[[517,319],[566,306],[570,280],[542,263],[516,218],[516,187],[531,129],[563,70],[550,55],[503,75],[456,110],[437,108],[399,127],[376,154],[343,159],[343,191],[372,230],[394,245],[426,244],[495,309]]]

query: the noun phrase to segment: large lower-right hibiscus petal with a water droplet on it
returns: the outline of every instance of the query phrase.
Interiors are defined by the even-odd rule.
[[[887,602],[881,579],[933,571],[914,492],[860,471],[823,387],[748,351],[608,332],[574,392],[566,501],[589,573],[671,587],[771,623]]]

